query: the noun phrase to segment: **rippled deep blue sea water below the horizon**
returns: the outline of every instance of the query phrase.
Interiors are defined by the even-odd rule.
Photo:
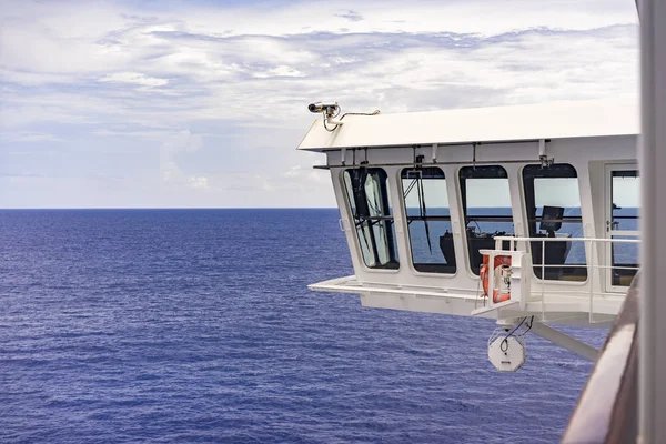
[[[337,210],[0,211],[0,441],[553,443],[591,364],[362,309]],[[569,330],[601,345],[605,332]]]

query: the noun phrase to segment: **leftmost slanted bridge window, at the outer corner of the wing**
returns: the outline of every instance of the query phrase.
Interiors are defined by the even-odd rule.
[[[345,170],[344,186],[365,265],[397,269],[395,228],[386,173],[377,168]]]

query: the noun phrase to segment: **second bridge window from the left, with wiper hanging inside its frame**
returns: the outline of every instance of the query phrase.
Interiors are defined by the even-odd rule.
[[[414,269],[455,273],[444,172],[438,168],[404,169],[401,178]]]

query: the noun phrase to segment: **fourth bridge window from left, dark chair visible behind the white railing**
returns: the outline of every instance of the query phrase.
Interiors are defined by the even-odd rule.
[[[571,241],[584,236],[576,169],[566,163],[526,165],[523,186],[529,238],[546,239],[531,242],[534,273],[546,280],[585,281],[585,244]]]

